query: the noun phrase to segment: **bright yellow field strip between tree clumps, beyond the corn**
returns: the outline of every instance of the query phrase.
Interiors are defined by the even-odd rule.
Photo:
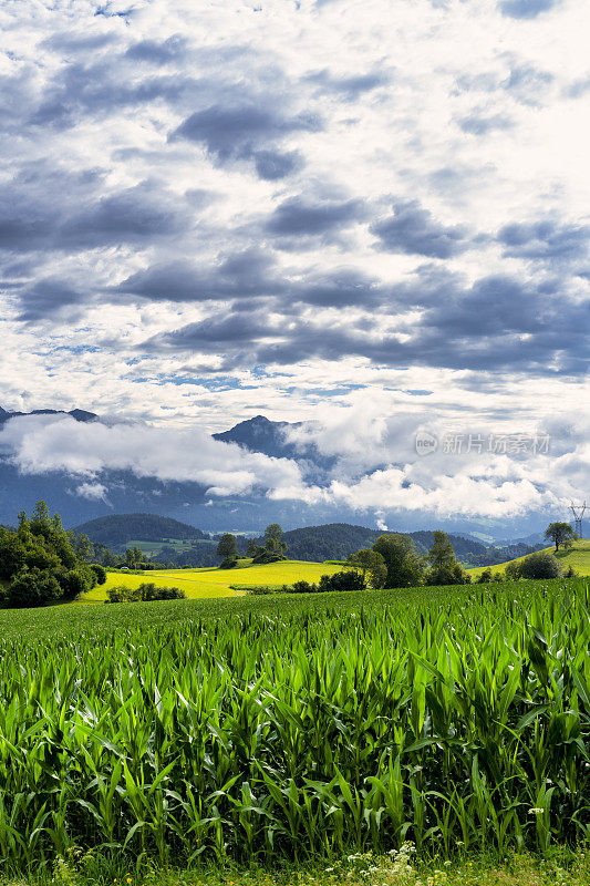
[[[107,588],[116,585],[136,588],[143,581],[153,581],[159,587],[178,587],[189,599],[200,597],[236,597],[244,590],[232,590],[231,585],[292,585],[293,581],[318,581],[327,573],[338,573],[342,567],[334,564],[283,560],[266,566],[245,566],[236,569],[157,569],[144,575],[110,573],[105,585],[91,590],[81,602],[103,602]]]

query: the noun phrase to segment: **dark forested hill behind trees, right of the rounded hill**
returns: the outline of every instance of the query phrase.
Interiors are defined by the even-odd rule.
[[[383,529],[369,529],[366,526],[352,526],[349,523],[328,523],[324,526],[306,526],[283,534],[287,554],[292,559],[328,560],[345,559],[361,547],[371,547]],[[433,532],[408,533],[414,539],[416,550],[425,553],[433,543]],[[483,556],[488,548],[479,542],[449,535],[455,555],[459,559],[470,560]]]

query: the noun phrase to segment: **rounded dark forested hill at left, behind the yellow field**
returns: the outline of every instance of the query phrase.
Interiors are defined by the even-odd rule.
[[[207,533],[187,523],[159,517],[156,514],[111,514],[97,517],[74,527],[75,533],[87,535],[91,542],[106,546],[125,545],[127,542],[162,542],[167,538],[208,538]]]

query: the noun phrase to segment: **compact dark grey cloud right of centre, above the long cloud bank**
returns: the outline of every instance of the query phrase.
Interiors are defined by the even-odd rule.
[[[439,224],[418,200],[401,200],[393,208],[393,216],[370,228],[384,251],[451,258],[469,247],[463,225]]]

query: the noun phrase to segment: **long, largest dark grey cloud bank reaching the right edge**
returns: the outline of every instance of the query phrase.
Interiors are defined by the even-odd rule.
[[[581,373],[589,359],[589,307],[569,302],[566,310],[565,301],[557,290],[498,276],[469,289],[448,287],[446,299],[431,305],[418,322],[397,323],[394,331],[380,329],[381,315],[325,327],[300,315],[282,320],[273,315],[269,326],[260,312],[230,312],[173,330],[144,348],[219,353],[224,369],[352,356],[394,368]]]

